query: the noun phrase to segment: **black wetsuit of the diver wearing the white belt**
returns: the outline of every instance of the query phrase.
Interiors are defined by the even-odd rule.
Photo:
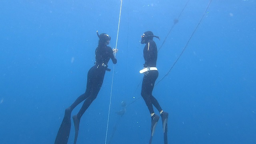
[[[144,67],[156,67],[156,60],[157,60],[157,47],[156,43],[153,40],[148,40],[146,42],[146,46],[143,50],[145,64]],[[152,104],[157,108],[160,112],[162,108],[160,107],[158,101],[154,96],[152,96],[152,91],[154,88],[154,84],[156,79],[158,78],[158,71],[157,70],[150,70],[148,71],[148,75],[144,75],[142,81],[142,89],[141,89],[141,96],[145,100],[146,105],[148,106],[148,110],[150,114],[154,113]]]

